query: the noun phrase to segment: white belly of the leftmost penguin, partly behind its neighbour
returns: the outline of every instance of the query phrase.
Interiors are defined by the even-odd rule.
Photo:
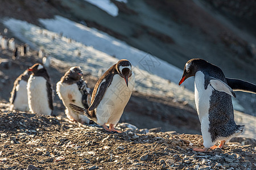
[[[16,97],[13,103],[13,109],[18,111],[29,111],[27,103],[27,82],[20,80],[16,86]]]

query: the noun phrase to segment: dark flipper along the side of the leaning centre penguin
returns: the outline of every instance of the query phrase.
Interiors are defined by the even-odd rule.
[[[100,85],[97,88],[97,93],[94,97],[94,100],[92,101],[92,104],[89,107],[89,111],[93,111],[94,109],[96,109],[98,107],[98,105],[100,104],[103,96],[106,93],[106,90],[108,89],[110,83],[112,82],[112,80],[108,80],[106,81],[106,79],[102,80],[102,82],[100,83]]]

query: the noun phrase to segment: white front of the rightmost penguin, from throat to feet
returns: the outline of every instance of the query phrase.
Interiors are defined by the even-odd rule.
[[[201,133],[204,139],[204,146],[213,146],[212,138],[209,133],[209,108],[210,108],[210,96],[212,95],[213,88],[208,85],[205,90],[204,87],[204,74],[201,71],[197,71],[195,75],[195,101],[197,114],[201,123]]]

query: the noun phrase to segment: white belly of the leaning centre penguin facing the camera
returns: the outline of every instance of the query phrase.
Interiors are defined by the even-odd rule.
[[[135,84],[134,74],[128,80],[128,87],[125,79],[114,75],[112,83],[96,109],[97,124],[117,124],[128,103]]]

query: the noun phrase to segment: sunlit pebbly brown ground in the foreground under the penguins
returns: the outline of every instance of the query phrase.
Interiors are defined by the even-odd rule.
[[[5,103],[0,109],[0,169],[256,168],[256,142],[250,139],[199,153],[192,148],[203,147],[200,135],[148,132],[130,124],[117,125],[123,133],[108,133],[60,117],[10,112]]]

